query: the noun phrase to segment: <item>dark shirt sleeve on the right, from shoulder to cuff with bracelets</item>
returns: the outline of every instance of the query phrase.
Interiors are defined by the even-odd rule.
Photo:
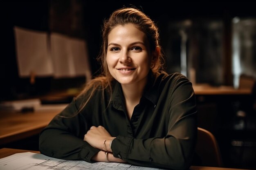
[[[197,139],[194,91],[183,76],[177,76],[171,82],[159,88],[162,92],[155,109],[148,115],[150,118],[143,121],[147,127],[143,138],[120,135],[113,140],[115,157],[138,166],[173,170],[191,166]]]

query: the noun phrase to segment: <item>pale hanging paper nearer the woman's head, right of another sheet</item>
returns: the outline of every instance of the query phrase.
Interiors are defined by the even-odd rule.
[[[91,77],[88,50],[85,40],[51,33],[51,53],[54,77]]]

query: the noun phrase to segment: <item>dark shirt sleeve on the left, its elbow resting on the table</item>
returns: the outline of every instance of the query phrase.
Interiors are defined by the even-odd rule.
[[[83,114],[75,114],[76,112],[77,107],[73,99],[43,129],[39,137],[39,150],[42,154],[59,159],[92,162],[92,156],[99,150],[83,141],[83,135],[90,125]]]

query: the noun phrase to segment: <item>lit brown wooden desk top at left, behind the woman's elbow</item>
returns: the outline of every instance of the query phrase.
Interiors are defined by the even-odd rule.
[[[20,113],[0,110],[0,144],[39,134],[64,106]]]

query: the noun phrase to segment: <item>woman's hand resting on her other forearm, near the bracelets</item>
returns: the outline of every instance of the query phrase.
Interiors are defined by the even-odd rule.
[[[111,151],[109,148],[109,141],[111,141],[114,137],[112,137],[109,132],[103,126],[92,126],[90,130],[84,135],[84,141],[87,141],[92,147],[103,150],[104,149]],[[104,141],[108,140],[108,142]]]

